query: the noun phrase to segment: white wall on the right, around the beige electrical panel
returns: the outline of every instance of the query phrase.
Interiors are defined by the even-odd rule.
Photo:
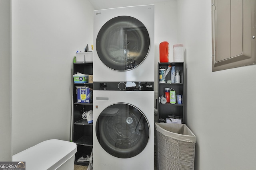
[[[256,160],[256,66],[212,72],[211,0],[177,0],[187,69],[187,125],[196,170],[252,170]]]

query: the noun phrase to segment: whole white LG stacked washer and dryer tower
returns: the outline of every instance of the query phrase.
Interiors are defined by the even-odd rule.
[[[94,11],[94,170],[154,169],[154,5]]]

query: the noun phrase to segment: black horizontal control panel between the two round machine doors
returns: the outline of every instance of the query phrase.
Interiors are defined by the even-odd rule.
[[[93,90],[154,91],[154,82],[93,82]]]

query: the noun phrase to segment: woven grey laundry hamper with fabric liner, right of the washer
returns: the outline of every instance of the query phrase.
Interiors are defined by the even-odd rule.
[[[196,136],[185,124],[155,123],[158,170],[194,170]]]

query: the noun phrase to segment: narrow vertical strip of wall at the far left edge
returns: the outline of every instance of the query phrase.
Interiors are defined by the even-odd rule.
[[[0,0],[0,161],[12,160],[11,3]]]

